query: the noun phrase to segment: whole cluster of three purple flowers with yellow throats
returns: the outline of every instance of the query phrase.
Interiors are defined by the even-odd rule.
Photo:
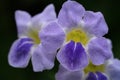
[[[48,15],[49,14],[49,15]],[[60,63],[56,80],[119,80],[120,60],[114,59],[108,26],[101,12],[86,11],[66,1],[56,17],[54,6],[31,17],[16,11],[18,39],[8,55],[9,64],[24,68],[31,59],[35,72]]]

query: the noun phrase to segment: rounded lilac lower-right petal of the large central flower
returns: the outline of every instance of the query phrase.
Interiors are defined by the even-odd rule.
[[[113,56],[111,43],[104,37],[94,37],[88,43],[88,54],[93,64],[101,65]]]

